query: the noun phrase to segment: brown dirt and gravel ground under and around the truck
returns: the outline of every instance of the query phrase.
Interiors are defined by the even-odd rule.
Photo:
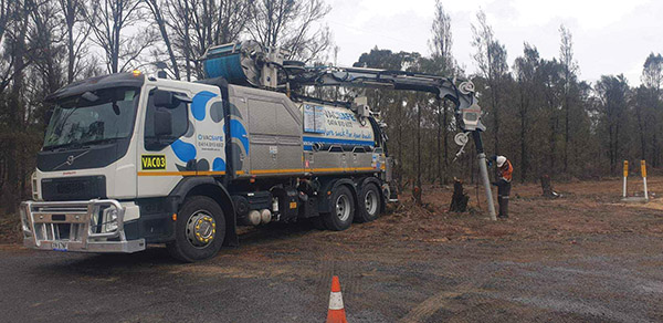
[[[11,244],[18,237],[9,232],[18,229],[15,220],[0,219],[6,242],[0,244],[0,263],[6,263],[0,271],[12,272],[0,272],[0,284],[27,290],[13,301],[0,301],[0,311],[12,317],[12,304],[33,305],[30,289],[49,290],[48,279],[32,283],[35,275],[88,280],[84,289],[66,288],[83,294],[110,284],[129,288],[137,275],[176,275],[187,283],[180,291],[188,283],[210,281],[212,290],[223,282],[239,294],[261,291],[240,300],[222,296],[215,303],[224,315],[221,322],[322,322],[336,274],[350,322],[663,321],[663,202],[656,198],[663,194],[663,178],[649,179],[654,199],[646,205],[621,202],[621,180],[554,186],[560,198],[540,197],[537,185],[515,184],[511,218],[496,222],[481,209],[483,197],[477,205],[475,187],[466,187],[473,209],[467,213],[446,212],[451,190],[429,187],[423,207],[404,197],[392,212],[343,232],[306,223],[244,230],[239,248],[196,264],[175,263],[162,248],[117,257],[24,250]],[[631,188],[635,194],[640,181]],[[36,254],[40,260],[31,259]],[[57,270],[49,271],[50,265]],[[94,296],[80,302],[85,308]],[[246,302],[259,304],[259,311],[249,311]],[[56,303],[49,306],[60,313]],[[134,309],[119,317],[104,311],[83,312],[88,316],[77,312],[75,317],[191,321],[189,308],[165,314],[160,306],[172,305]],[[285,316],[273,319],[276,312]],[[72,316],[63,312],[53,317]],[[209,319],[200,312],[193,317]]]

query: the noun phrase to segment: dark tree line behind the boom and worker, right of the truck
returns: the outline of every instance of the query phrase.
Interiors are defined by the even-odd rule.
[[[356,66],[387,67],[469,79],[484,110],[484,147],[505,155],[515,166],[517,181],[599,179],[620,176],[621,163],[645,159],[662,166],[663,56],[643,58],[641,84],[629,85],[620,75],[596,82],[579,79],[570,30],[559,28],[559,54],[541,58],[535,44],[509,60],[483,11],[472,23],[474,73],[463,71],[452,54],[450,14],[435,4],[428,56],[375,48]],[[475,148],[460,147],[453,107],[413,93],[369,93],[371,106],[382,113],[391,139],[390,152],[401,184],[448,184],[452,178],[476,181]],[[638,171],[638,169],[632,169]]]

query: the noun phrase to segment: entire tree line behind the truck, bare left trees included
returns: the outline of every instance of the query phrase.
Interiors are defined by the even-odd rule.
[[[173,79],[203,76],[199,58],[213,45],[254,39],[319,64],[336,55],[324,24],[324,0],[0,0],[0,208],[30,197],[30,174],[42,144],[48,94],[67,83],[167,62]],[[506,155],[517,180],[613,176],[622,159],[661,167],[663,56],[643,64],[641,85],[623,75],[579,80],[571,32],[560,27],[557,58],[536,45],[509,60],[486,15],[472,24],[476,72],[453,56],[450,14],[440,1],[430,54],[373,48],[356,66],[470,79],[486,114],[488,154]],[[345,92],[347,94],[347,92]],[[388,124],[390,155],[401,181],[473,180],[474,147],[456,157],[453,106],[430,95],[367,90]],[[336,91],[334,97],[339,92]]]

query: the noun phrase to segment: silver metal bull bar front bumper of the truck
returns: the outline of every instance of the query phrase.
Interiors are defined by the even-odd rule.
[[[125,208],[117,200],[25,201],[20,212],[28,248],[122,253],[146,248],[145,239],[126,239]]]

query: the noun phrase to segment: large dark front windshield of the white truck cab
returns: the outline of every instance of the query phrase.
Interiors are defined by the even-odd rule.
[[[44,149],[129,136],[139,93],[138,87],[110,87],[57,101],[46,128]]]

